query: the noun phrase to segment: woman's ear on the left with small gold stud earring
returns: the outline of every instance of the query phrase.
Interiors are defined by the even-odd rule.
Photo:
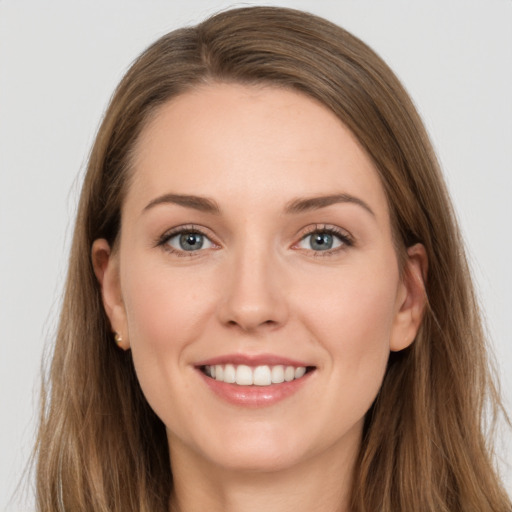
[[[126,312],[121,295],[119,256],[108,242],[100,238],[92,244],[91,259],[96,279],[101,287],[103,307],[116,334],[116,343],[123,350],[130,348]]]

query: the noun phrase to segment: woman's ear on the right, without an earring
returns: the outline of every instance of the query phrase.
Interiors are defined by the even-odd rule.
[[[389,347],[392,352],[403,350],[416,338],[427,303],[427,271],[425,247],[422,244],[409,247],[397,295],[397,312]]]

